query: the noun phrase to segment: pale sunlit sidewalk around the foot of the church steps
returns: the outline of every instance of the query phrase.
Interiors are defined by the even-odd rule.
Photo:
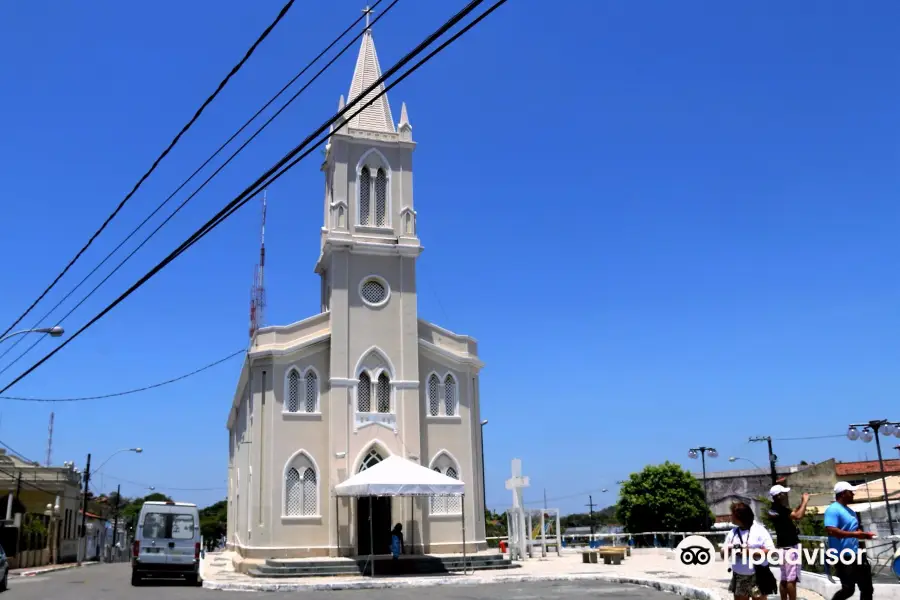
[[[202,565],[203,587],[229,591],[302,591],[383,589],[425,587],[434,585],[486,585],[529,581],[608,581],[630,583],[672,592],[693,600],[731,600],[728,583],[731,575],[721,563],[696,567],[685,574],[664,552],[635,550],[621,565],[583,564],[580,552],[533,558],[520,563],[518,569],[476,571],[474,574],[448,574],[422,577],[307,577],[262,578],[236,573],[231,560],[234,554],[222,552],[207,555]],[[824,600],[822,596],[801,589],[802,600]]]

